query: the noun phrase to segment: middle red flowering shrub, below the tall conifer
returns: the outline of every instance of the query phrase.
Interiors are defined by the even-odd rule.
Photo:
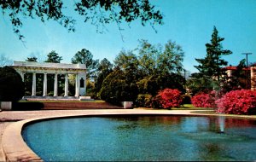
[[[217,98],[216,91],[212,90],[209,94],[200,93],[191,98],[194,107],[216,107],[215,100]]]

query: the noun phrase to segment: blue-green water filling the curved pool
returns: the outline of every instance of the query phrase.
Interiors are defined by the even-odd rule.
[[[22,136],[45,161],[256,159],[256,121],[247,119],[174,116],[55,119],[30,124]]]

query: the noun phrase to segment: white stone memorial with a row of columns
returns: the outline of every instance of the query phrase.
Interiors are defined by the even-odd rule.
[[[30,98],[47,98],[47,76],[48,74],[55,75],[54,84],[54,97],[68,98],[68,74],[75,75],[75,98],[81,98],[86,95],[86,67],[84,64],[63,64],[63,63],[38,63],[28,61],[14,61],[12,66],[17,72],[20,73],[22,80],[24,81],[25,73],[32,73],[32,96]],[[43,96],[37,96],[36,87],[36,74],[44,74],[44,90]],[[65,95],[58,95],[58,75],[65,75]],[[28,97],[28,96],[25,96]],[[29,97],[28,97],[29,98]]]

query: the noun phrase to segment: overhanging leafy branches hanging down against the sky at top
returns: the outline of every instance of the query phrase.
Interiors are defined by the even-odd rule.
[[[66,5],[65,5],[65,3]],[[42,22],[45,20],[55,20],[68,31],[75,31],[75,22],[72,16],[65,14],[65,9],[73,6],[77,14],[84,17],[84,22],[90,22],[96,26],[97,31],[106,24],[115,22],[121,30],[120,24],[125,21],[130,23],[134,20],[141,20],[145,26],[147,22],[154,27],[155,24],[162,24],[163,16],[159,10],[154,10],[154,5],[148,0],[79,0],[74,4],[67,4],[67,1],[0,1],[0,8],[3,14],[9,16],[13,25],[13,30],[22,40],[24,36],[20,32],[24,18],[38,18]]]

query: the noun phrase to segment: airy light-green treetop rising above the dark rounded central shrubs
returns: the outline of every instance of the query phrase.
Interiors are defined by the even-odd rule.
[[[184,52],[180,45],[169,40],[165,49],[141,40],[138,47],[139,64],[147,75],[181,72]]]

